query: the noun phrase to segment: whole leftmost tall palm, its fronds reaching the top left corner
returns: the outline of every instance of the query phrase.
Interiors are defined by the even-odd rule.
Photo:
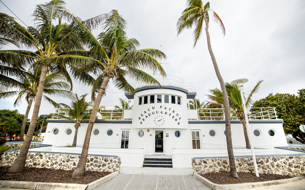
[[[62,0],[52,0],[45,4],[36,5],[33,13],[35,27],[28,27],[26,29],[14,18],[0,13],[0,26],[1,28],[3,27],[3,30],[0,30],[0,37],[13,40],[21,47],[34,49],[34,51],[1,50],[0,62],[9,66],[14,63],[41,66],[41,76],[34,112],[28,129],[29,134],[34,133],[48,69],[51,69],[53,72],[63,72],[67,80],[70,81],[71,78],[66,70],[67,67],[70,67],[70,71],[74,72],[77,63],[96,62],[92,58],[67,54],[66,52],[68,50],[83,49],[83,43],[88,39],[90,40],[84,29],[95,29],[107,18],[107,14],[87,19],[84,22],[74,17],[73,20],[67,21],[69,23],[62,23],[62,18],[69,17],[70,15],[72,14],[66,11],[65,2]],[[54,23],[57,25],[54,25]],[[67,66],[66,64],[70,65]],[[73,64],[75,65],[71,66]],[[21,173],[24,171],[30,142],[30,138],[25,139],[20,154],[9,169],[9,173]]]

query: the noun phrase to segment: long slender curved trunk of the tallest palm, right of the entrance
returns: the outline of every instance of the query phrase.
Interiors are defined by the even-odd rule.
[[[206,19],[205,12],[203,13],[204,21],[206,22],[206,40],[208,43],[208,49],[212,58],[212,62],[214,65],[214,69],[217,75],[217,78],[219,80],[221,90],[224,96],[224,115],[225,115],[225,122],[226,122],[226,140],[227,140],[227,149],[228,149],[228,157],[229,157],[229,163],[230,163],[230,172],[231,176],[234,178],[238,178],[236,166],[235,166],[235,160],[234,160],[234,154],[233,154],[233,146],[232,146],[232,137],[231,137],[231,119],[230,119],[230,105],[229,105],[229,98],[228,93],[226,90],[226,87],[224,85],[224,80],[221,77],[220,71],[218,69],[218,65],[211,47],[210,42],[210,34],[209,34],[209,23]]]

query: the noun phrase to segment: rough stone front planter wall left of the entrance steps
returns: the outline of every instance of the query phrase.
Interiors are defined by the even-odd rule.
[[[1,157],[0,166],[11,166],[18,155],[19,152],[6,151]],[[79,158],[80,155],[29,152],[25,166],[29,168],[73,170],[76,168]],[[115,172],[120,171],[120,164],[120,157],[88,156],[86,170]]]

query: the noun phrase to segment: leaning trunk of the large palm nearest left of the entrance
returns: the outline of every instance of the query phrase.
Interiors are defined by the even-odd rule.
[[[105,93],[105,89],[108,85],[110,77],[105,76],[104,81],[101,85],[101,88],[99,89],[99,93],[96,96],[93,108],[92,108],[92,112],[90,115],[90,119],[89,119],[89,123],[88,123],[88,127],[87,127],[87,132],[85,135],[85,140],[84,140],[84,145],[83,145],[83,149],[81,151],[81,157],[78,161],[78,164],[72,174],[72,178],[81,178],[82,176],[84,176],[84,172],[85,172],[85,168],[86,168],[86,161],[87,161],[87,156],[88,156],[88,150],[89,150],[89,142],[90,142],[90,137],[91,137],[91,131],[93,128],[93,124],[95,122],[95,118],[96,118],[96,114],[97,111],[99,109],[99,104],[101,103],[102,100],[102,96]]]

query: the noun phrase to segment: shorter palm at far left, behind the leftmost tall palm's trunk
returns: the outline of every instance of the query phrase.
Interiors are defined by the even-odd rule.
[[[27,117],[29,115],[32,103],[37,95],[40,75],[41,67],[36,67],[33,70],[29,70],[27,74],[21,74],[18,77],[16,76],[16,78],[18,78],[16,81],[23,84],[23,86],[19,86],[20,89],[14,91],[0,92],[0,99],[18,95],[16,101],[14,102],[14,106],[19,106],[23,98],[25,98],[28,103],[27,110],[23,119],[20,136],[23,136],[24,134],[25,125],[27,123]],[[48,95],[62,96],[64,98],[71,98],[72,95],[70,92],[70,85],[65,80],[66,78],[63,76],[62,73],[49,72],[49,74],[47,74],[45,78],[45,87],[43,89],[43,93]],[[43,95],[43,97],[46,101],[53,104],[55,107],[58,106],[58,104],[48,96]]]

